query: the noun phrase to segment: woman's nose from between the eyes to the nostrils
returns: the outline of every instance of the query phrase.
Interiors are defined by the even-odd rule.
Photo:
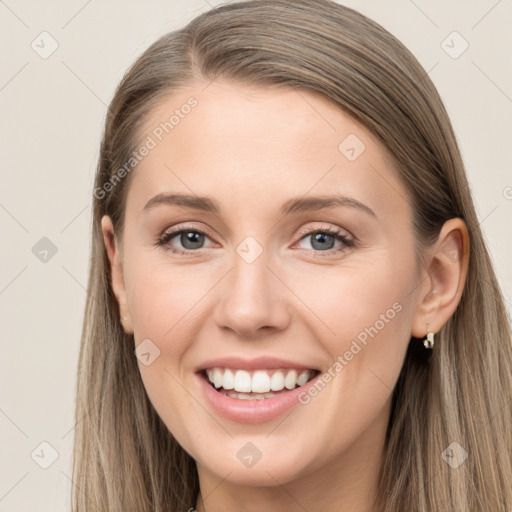
[[[265,252],[248,263],[234,255],[233,268],[222,280],[215,309],[217,325],[240,337],[268,336],[286,329],[290,322],[287,288],[270,269]]]

